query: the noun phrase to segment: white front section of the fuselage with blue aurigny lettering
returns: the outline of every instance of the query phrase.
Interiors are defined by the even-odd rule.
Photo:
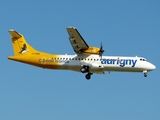
[[[155,66],[142,57],[102,56],[99,55],[59,55],[52,58],[58,62],[61,69],[80,72],[82,66],[89,66],[91,73],[105,71],[143,72],[155,69]],[[46,62],[48,62],[46,60]]]

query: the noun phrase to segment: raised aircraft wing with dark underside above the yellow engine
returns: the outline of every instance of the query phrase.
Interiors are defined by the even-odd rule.
[[[67,29],[67,32],[70,36],[69,40],[70,40],[70,43],[73,47],[73,50],[77,54],[81,54],[81,53],[83,53],[84,50],[89,48],[89,46],[87,45],[87,43],[82,38],[82,36],[80,35],[80,33],[78,32],[78,30],[76,28],[68,27],[66,29]]]

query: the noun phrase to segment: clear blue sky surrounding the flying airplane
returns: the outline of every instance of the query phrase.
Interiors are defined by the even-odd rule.
[[[0,4],[0,120],[159,120],[160,1],[9,1]],[[148,74],[44,70],[9,61],[8,29],[40,51],[75,54],[66,27],[76,27],[104,55],[143,56]]]

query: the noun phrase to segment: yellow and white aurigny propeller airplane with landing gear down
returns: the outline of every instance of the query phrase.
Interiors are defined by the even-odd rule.
[[[44,69],[72,70],[86,73],[89,80],[91,75],[110,72],[142,72],[147,73],[156,69],[156,66],[143,57],[103,56],[102,44],[100,48],[89,46],[75,27],[67,27],[69,41],[75,55],[59,55],[40,52],[29,45],[24,36],[15,30],[9,30],[11,35],[14,56],[9,60],[22,62]]]

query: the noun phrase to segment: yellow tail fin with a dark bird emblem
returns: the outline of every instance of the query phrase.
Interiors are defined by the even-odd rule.
[[[26,54],[31,54],[33,52],[38,52],[26,42],[25,38],[20,33],[14,30],[9,30],[8,32],[10,33],[11,38],[12,38],[12,45],[13,45],[15,56],[26,55]]]

